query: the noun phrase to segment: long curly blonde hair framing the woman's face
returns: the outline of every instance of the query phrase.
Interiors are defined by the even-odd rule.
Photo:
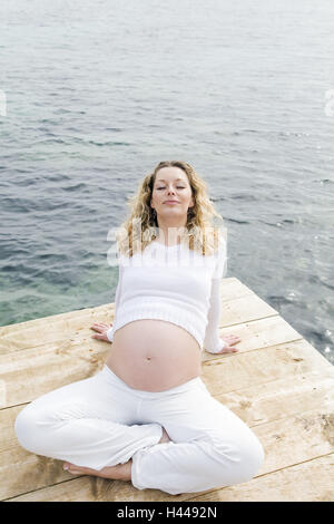
[[[179,229],[181,243],[186,242],[190,250],[197,251],[202,255],[214,254],[224,237],[222,227],[215,225],[214,220],[217,217],[223,222],[223,217],[208,197],[206,182],[188,163],[181,161],[159,162],[153,173],[144,177],[137,193],[129,197],[127,202],[130,207],[129,216],[122,222],[116,234],[119,253],[129,258],[137,252],[143,253],[146,246],[158,236],[157,215],[150,206],[150,202],[157,173],[163,167],[183,169],[191,187],[195,204],[188,210],[186,227]]]

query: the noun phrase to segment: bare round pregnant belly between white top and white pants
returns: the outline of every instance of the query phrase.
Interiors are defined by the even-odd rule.
[[[184,328],[145,319],[115,332],[106,365],[134,389],[164,391],[198,377],[202,353]]]

